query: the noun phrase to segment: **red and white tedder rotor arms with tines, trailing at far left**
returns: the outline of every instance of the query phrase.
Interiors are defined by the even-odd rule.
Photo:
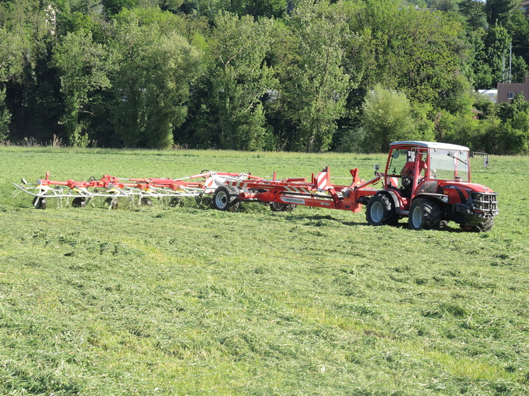
[[[228,180],[240,181],[249,177],[244,173],[202,171],[182,179],[121,179],[104,175],[102,179],[92,176],[89,181],[56,181],[46,172],[45,178],[36,183],[22,179],[20,184],[13,184],[33,196],[33,206],[38,209],[45,209],[50,198],[56,198],[59,205],[68,205],[71,200],[73,206],[81,208],[94,198],[102,198],[109,208],[115,209],[118,198],[129,198],[131,203],[140,205],[151,205],[153,199],[168,200],[170,205],[177,206],[181,205],[182,198],[200,200]]]

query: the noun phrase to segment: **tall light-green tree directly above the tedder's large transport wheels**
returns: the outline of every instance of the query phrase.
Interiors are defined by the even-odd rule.
[[[262,100],[277,85],[265,62],[273,23],[223,12],[215,24],[207,103],[217,119],[220,144],[226,149],[270,148]]]

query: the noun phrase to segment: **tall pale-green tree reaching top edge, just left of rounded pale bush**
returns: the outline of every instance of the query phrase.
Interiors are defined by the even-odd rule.
[[[342,67],[350,37],[346,22],[337,7],[310,0],[300,1],[288,21],[298,37],[298,60],[282,92],[285,117],[296,126],[290,149],[329,149],[349,94],[349,76]]]

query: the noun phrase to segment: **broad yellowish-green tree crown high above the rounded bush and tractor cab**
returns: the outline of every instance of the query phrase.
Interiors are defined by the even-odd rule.
[[[358,19],[360,28],[371,30],[363,84],[381,83],[411,101],[435,103],[461,67],[462,26],[446,13],[400,8],[398,1],[367,0]]]

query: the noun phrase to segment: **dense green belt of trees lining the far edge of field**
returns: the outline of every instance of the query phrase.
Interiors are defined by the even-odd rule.
[[[528,154],[523,97],[475,91],[528,74],[520,5],[5,0],[0,140],[380,152],[423,139]]]

